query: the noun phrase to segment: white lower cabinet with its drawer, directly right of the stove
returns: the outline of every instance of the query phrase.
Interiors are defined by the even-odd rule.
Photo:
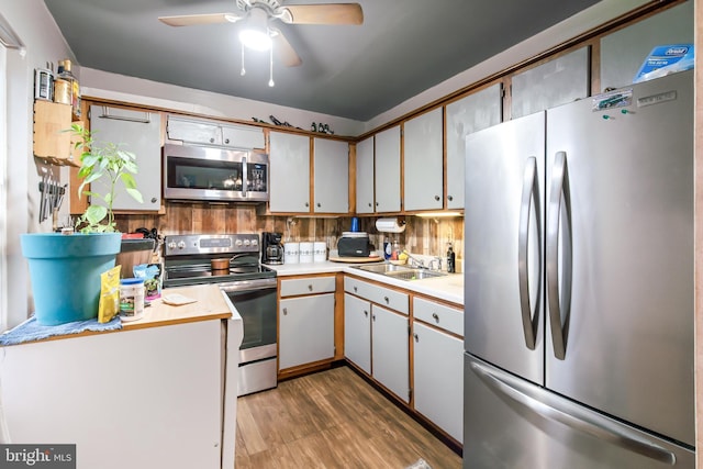
[[[334,358],[334,277],[281,281],[278,368]]]

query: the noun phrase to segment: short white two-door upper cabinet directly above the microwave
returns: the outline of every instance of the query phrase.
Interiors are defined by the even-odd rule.
[[[226,146],[231,148],[264,148],[264,130],[248,125],[169,115],[166,126],[168,139],[189,144]]]

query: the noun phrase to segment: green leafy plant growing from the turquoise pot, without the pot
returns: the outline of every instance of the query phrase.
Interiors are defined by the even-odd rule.
[[[140,203],[144,202],[142,193],[136,189],[134,176],[132,176],[137,172],[136,156],[123,149],[123,144],[96,141],[93,132],[78,123],[71,124],[69,132],[77,138],[75,147],[81,149],[80,169],[78,170],[81,182],[78,188],[78,197],[86,194],[104,203],[90,204],[78,219],[76,228],[81,233],[115,233],[118,228],[112,203],[118,181],[122,182],[126,192],[134,200]],[[108,180],[108,192],[104,194],[96,192],[92,183],[103,178]],[[86,185],[91,185],[90,190],[83,190]]]

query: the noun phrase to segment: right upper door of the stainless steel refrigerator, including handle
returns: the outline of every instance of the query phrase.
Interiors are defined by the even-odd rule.
[[[546,386],[694,446],[692,71],[592,108],[547,113]]]

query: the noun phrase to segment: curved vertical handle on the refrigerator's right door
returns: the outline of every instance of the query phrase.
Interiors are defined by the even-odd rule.
[[[562,197],[563,196],[563,197]],[[566,220],[561,220],[561,203],[563,202]],[[571,203],[569,198],[569,176],[567,170],[567,154],[558,152],[555,155],[551,192],[547,212],[547,300],[549,310],[549,330],[554,356],[560,360],[566,357],[569,331],[569,306],[571,302],[570,269],[565,268],[561,278],[561,294],[559,294],[559,232],[565,226],[567,235],[571,232]],[[562,257],[567,266],[570,255],[570,239],[563,243]],[[563,311],[562,311],[563,310]],[[561,317],[565,317],[562,321]]]

